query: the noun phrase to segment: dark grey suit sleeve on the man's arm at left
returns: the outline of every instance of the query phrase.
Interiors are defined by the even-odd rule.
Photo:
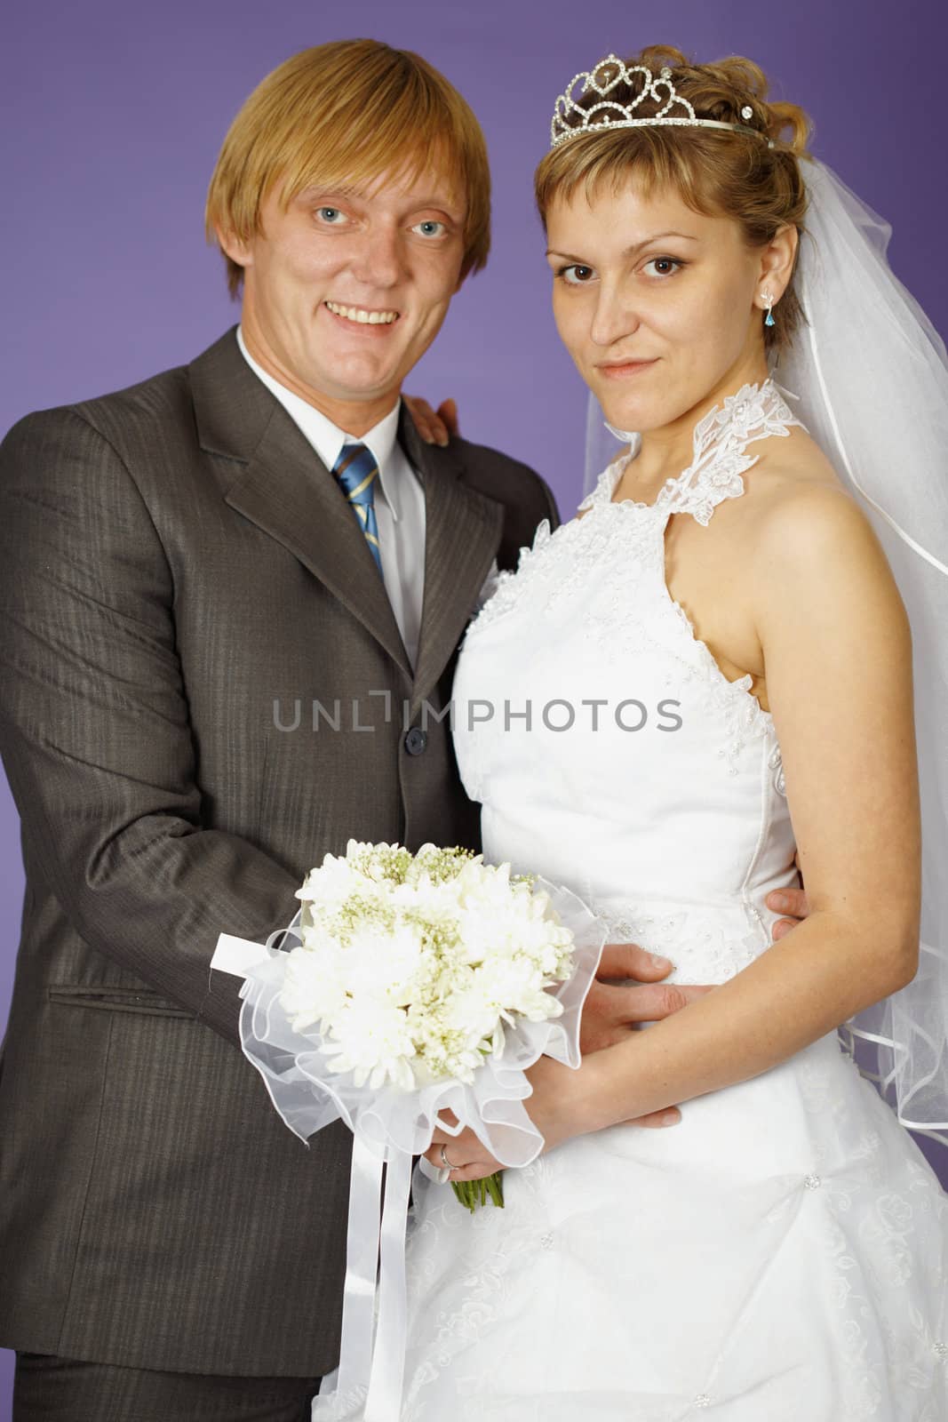
[[[173,583],[141,493],[75,411],[0,447],[0,752],[38,867],[77,933],[232,1042],[217,933],[262,939],[298,884],[205,829]]]

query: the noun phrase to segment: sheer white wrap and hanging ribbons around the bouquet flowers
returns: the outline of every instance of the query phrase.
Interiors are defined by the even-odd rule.
[[[303,1140],[333,1121],[352,1132],[350,1212],[345,1243],[343,1340],[335,1386],[325,1384],[313,1404],[313,1416],[355,1416],[362,1422],[399,1422],[408,1291],[405,1284],[405,1226],[412,1158],[424,1156],[435,1128],[459,1135],[469,1126],[505,1166],[524,1166],[543,1149],[543,1136],[523,1101],[530,1095],[524,1075],[540,1057],[567,1066],[580,1065],[580,1017],[598,968],[607,930],[601,919],[570,893],[544,880],[550,903],[574,939],[576,968],[553,995],[563,1008],[546,1022],[509,1028],[503,1054],[488,1058],[472,1084],[442,1081],[419,1091],[355,1086],[351,1074],[334,1074],[321,1052],[317,1028],[294,1031],[280,1001],[286,958],[279,946],[296,943],[297,914],[289,929],[271,933],[266,944],[222,933],[210,967],[242,977],[240,1041],[244,1057],[260,1072],[274,1108]],[[441,1119],[445,1111],[456,1126]],[[382,1192],[382,1173],[385,1187]],[[379,1227],[379,1199],[382,1216]],[[458,1206],[460,1209],[460,1206]]]

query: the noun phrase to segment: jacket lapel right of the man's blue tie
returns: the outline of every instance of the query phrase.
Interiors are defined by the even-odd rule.
[[[424,444],[402,407],[399,439],[425,485],[425,597],[412,717],[435,687],[468,624],[500,545],[503,506],[460,478],[456,447]]]

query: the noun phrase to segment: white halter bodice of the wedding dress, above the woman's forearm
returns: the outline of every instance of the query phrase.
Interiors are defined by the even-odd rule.
[[[672,948],[704,981],[766,947],[762,900],[792,876],[793,836],[773,720],[668,593],[665,526],[706,525],[743,493],[746,447],[795,424],[772,381],[745,385],[654,505],[613,502],[627,459],[610,465],[584,516],[540,525],[496,580],[455,681],[488,857],[567,883],[615,937]]]

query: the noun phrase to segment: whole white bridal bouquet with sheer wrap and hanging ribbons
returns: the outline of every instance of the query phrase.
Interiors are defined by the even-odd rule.
[[[540,1153],[524,1072],[544,1054],[580,1065],[605,926],[567,889],[435,845],[350,840],[296,897],[289,929],[266,944],[222,934],[212,967],[244,980],[243,1051],[287,1126],[304,1140],[338,1119],[352,1132],[337,1396],[397,1418],[412,1158],[436,1128],[465,1126],[505,1166]],[[500,1204],[500,1177],[455,1193]]]

